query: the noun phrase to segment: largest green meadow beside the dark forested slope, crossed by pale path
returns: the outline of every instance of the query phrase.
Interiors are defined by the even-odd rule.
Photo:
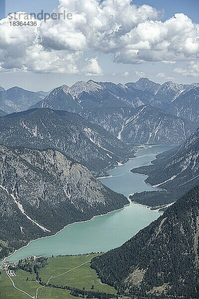
[[[114,288],[101,284],[96,272],[90,268],[90,261],[97,255],[57,257],[48,260],[48,266],[40,270],[42,281],[47,282],[49,277],[63,274],[71,269],[82,265],[62,276],[50,280],[50,284],[70,286],[78,289],[91,290],[94,285],[95,291],[116,294]]]

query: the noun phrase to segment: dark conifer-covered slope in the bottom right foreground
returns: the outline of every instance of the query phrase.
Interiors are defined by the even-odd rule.
[[[92,267],[133,298],[199,298],[199,187]]]

